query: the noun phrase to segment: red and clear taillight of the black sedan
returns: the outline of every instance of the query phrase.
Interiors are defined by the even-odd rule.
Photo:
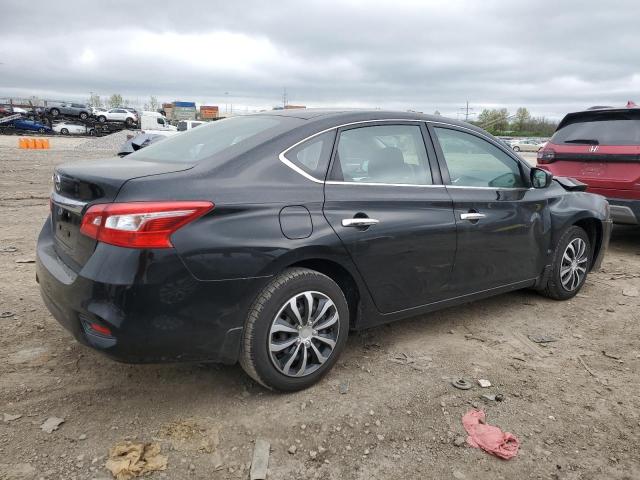
[[[169,248],[171,235],[213,209],[211,202],[131,202],[93,205],[80,231],[99,242],[129,248]]]

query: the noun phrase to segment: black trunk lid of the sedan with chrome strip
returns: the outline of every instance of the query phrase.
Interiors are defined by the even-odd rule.
[[[122,186],[131,179],[192,167],[185,163],[127,161],[119,158],[57,167],[51,195],[51,227],[56,253],[68,266],[78,271],[97,244],[94,239],[80,232],[82,216],[89,206],[113,202]]]

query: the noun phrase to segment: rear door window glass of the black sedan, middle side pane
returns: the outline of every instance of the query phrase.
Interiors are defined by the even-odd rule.
[[[431,185],[420,127],[379,125],[341,132],[332,178],[345,182]]]

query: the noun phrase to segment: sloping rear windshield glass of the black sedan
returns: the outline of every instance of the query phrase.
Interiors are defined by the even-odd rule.
[[[127,158],[196,163],[231,147],[247,151],[279,133],[283,118],[247,115],[218,120],[146,147]]]

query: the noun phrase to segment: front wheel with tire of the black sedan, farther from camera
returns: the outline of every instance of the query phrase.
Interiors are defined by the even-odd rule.
[[[553,253],[551,273],[540,293],[554,300],[573,298],[584,285],[591,266],[591,242],[582,228],[569,227]]]

